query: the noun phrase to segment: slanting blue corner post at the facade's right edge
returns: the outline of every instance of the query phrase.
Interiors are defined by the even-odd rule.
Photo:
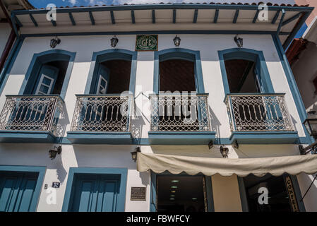
[[[287,79],[287,83],[289,85],[289,89],[291,90],[292,97],[294,99],[294,103],[297,106],[297,112],[299,114],[299,119],[301,119],[301,122],[304,122],[305,119],[307,119],[307,113],[306,108],[304,106],[304,102],[301,99],[301,94],[299,93],[299,89],[297,87],[297,83],[295,81],[291,66],[289,65],[289,62],[287,60],[286,54],[284,52],[284,49],[282,47],[282,44],[280,42],[280,38],[277,36],[277,34],[272,35],[273,42],[275,44],[275,48],[277,51],[277,54],[280,58],[280,62],[282,64],[282,67],[284,69],[284,73]],[[309,136],[309,132],[307,131],[306,127],[303,125],[303,129],[306,135],[306,143],[311,144],[314,142],[313,138]],[[303,141],[301,141],[303,142]]]

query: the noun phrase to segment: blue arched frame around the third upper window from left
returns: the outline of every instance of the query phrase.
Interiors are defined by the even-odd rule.
[[[166,61],[169,59],[184,59],[194,62],[195,81],[197,81],[196,92],[205,93],[203,70],[201,68],[201,52],[183,48],[164,49],[154,53],[154,93],[159,93],[160,91],[160,61]]]

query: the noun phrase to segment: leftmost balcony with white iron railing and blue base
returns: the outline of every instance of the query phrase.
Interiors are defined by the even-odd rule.
[[[7,95],[0,116],[0,142],[54,143],[62,110],[59,95]]]

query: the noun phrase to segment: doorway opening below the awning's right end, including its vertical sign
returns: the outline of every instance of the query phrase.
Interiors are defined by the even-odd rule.
[[[287,177],[290,180],[287,175],[274,177],[266,174],[264,177],[256,177],[250,174],[244,177],[249,212],[298,211],[294,189],[292,183],[289,185]]]

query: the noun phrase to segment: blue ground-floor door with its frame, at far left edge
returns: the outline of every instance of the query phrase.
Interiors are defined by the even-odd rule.
[[[35,212],[46,167],[0,165],[0,211]]]

